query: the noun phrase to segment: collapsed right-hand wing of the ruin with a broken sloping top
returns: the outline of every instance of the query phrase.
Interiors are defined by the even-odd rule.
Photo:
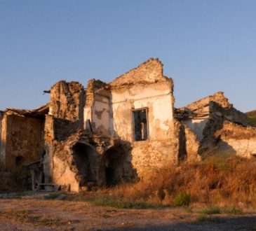
[[[255,157],[256,129],[248,126],[246,114],[235,109],[224,96],[224,92],[216,92],[175,109],[175,118],[191,134],[187,139],[194,139],[196,135],[196,146],[192,147],[197,147],[196,153],[200,158],[209,155]],[[187,146],[189,144],[187,142]]]

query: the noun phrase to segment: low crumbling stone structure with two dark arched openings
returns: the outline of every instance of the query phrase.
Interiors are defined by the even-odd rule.
[[[74,192],[90,186],[106,186],[107,169],[113,168],[116,181],[135,178],[130,149],[119,142],[98,136],[89,138],[85,132],[76,132],[61,143],[53,141],[53,183]],[[121,150],[119,156],[117,150]]]

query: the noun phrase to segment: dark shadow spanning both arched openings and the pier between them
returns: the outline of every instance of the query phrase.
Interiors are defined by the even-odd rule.
[[[131,163],[130,148],[126,145],[111,146],[102,155],[93,146],[79,142],[72,149],[79,187],[111,187],[137,178]]]

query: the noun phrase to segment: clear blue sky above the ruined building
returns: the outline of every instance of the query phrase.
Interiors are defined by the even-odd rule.
[[[256,1],[0,0],[0,109],[36,108],[58,80],[109,82],[149,57],[177,107],[224,91],[256,109]]]

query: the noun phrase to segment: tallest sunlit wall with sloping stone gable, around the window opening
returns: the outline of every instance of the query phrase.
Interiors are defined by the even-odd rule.
[[[150,169],[177,162],[179,132],[173,120],[173,80],[163,76],[159,59],[149,59],[109,83],[114,136],[132,144],[133,168],[139,177]],[[135,140],[133,110],[147,109],[148,137]]]

